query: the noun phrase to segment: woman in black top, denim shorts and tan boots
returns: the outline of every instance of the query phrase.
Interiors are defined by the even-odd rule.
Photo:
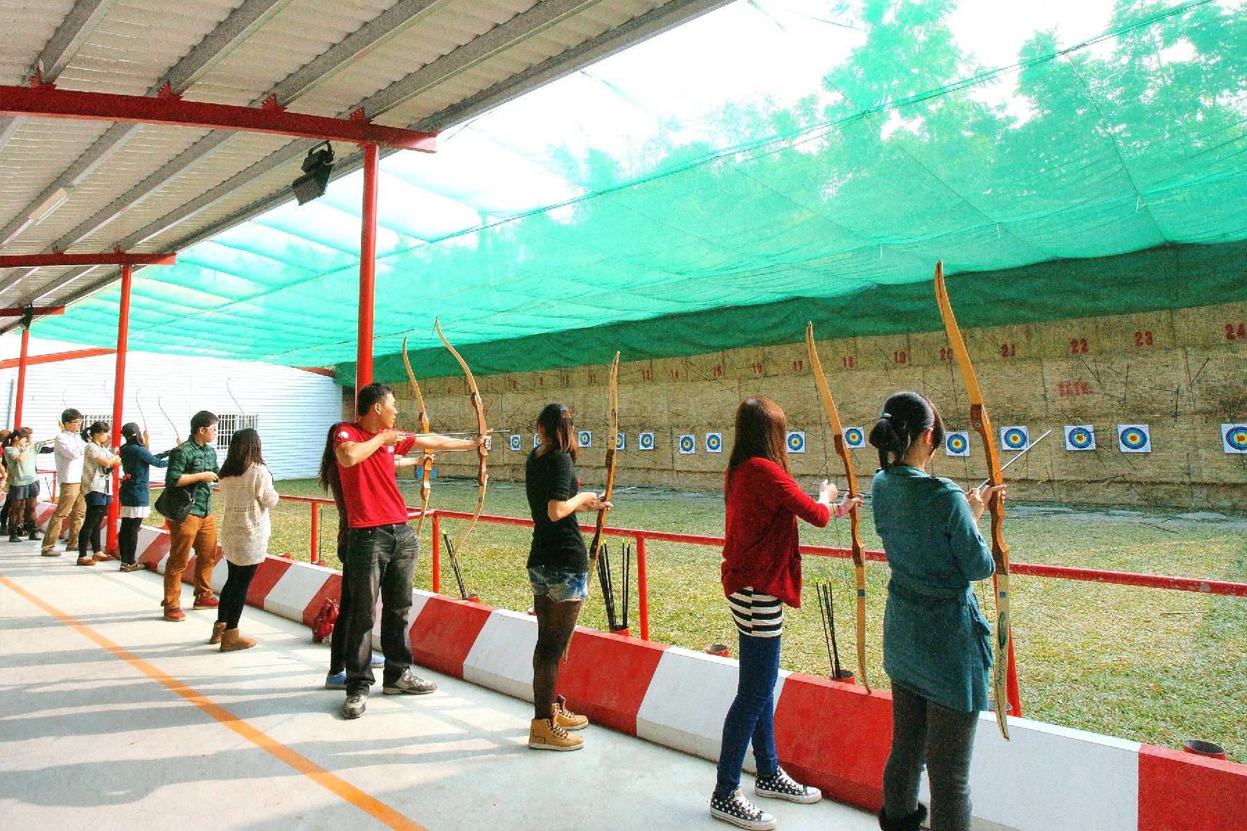
[[[589,719],[575,715],[555,694],[559,658],[571,640],[580,607],[589,597],[589,552],[576,523],[577,511],[610,507],[597,493],[580,491],[572,462],[571,411],[547,404],[537,416],[541,445],[529,453],[524,483],[532,512],[532,547],[529,549],[529,582],[537,618],[537,644],[532,650],[532,725],[529,746],[535,750],[579,750],[580,730]]]

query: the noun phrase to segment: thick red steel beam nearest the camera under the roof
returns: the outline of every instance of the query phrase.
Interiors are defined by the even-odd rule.
[[[236,130],[355,145],[380,145],[425,153],[434,152],[436,145],[436,133],[374,125],[360,113],[352,113],[349,118],[330,118],[288,112],[276,103],[239,107],[185,101],[181,96],[167,93],[148,97],[57,90],[51,83],[0,86],[0,115]]]

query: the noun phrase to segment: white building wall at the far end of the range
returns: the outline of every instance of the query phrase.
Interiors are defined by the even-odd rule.
[[[4,335],[0,338],[0,361],[15,361],[20,349],[20,334]],[[31,356],[81,349],[80,344],[30,339]],[[116,360],[116,355],[108,354],[29,365],[24,426],[34,430],[36,440],[50,439],[66,407],[81,410],[85,424],[111,421]],[[7,427],[12,426],[16,391],[17,369],[0,369],[2,424]],[[161,414],[162,406],[168,419]],[[221,461],[224,461],[234,426],[253,426],[259,430],[264,461],[273,476],[306,478],[317,475],[325,434],[342,419],[342,390],[330,378],[287,366],[127,353],[122,424],[146,425],[152,450],[173,446],[175,426],[177,436],[185,441],[191,416],[200,410],[211,410],[221,419],[217,432]],[[44,467],[51,465],[40,463],[40,468]]]

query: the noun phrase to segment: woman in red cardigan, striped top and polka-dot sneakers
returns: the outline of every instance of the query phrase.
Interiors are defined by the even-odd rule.
[[[783,410],[763,397],[746,399],[736,410],[736,439],[723,487],[723,594],[739,634],[741,678],[723,721],[710,812],[751,831],[776,827],[776,819],[741,792],[741,765],[751,740],[758,766],[754,794],[803,804],[823,796],[817,787],[793,781],[776,755],[774,686],[783,605],[801,607],[797,517],[822,528],[833,513],[843,517],[862,502],[845,497],[832,507],[837,490],[826,481],[818,498],[809,498],[788,470],[786,435]]]

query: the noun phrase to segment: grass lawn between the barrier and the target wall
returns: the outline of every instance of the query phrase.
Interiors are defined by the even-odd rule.
[[[308,480],[283,481],[278,490],[320,496]],[[403,490],[409,505],[419,505],[414,482],[404,481]],[[474,481],[439,480],[431,507],[470,512],[475,497]],[[717,493],[636,488],[617,493],[615,503],[610,516],[614,526],[723,532],[723,503]],[[1247,522],[1242,520],[1010,508],[1005,537],[1014,562],[1247,582]],[[527,517],[522,486],[491,483],[485,512]],[[272,553],[308,559],[308,513],[306,505],[278,506]],[[446,521],[444,529],[456,536],[460,527]],[[332,507],[322,508],[320,528],[320,556],[338,566],[333,544],[337,513]],[[880,547],[869,510],[863,512],[862,532],[868,548]],[[802,526],[801,536],[807,543],[847,546],[848,523],[833,520],[826,529]],[[478,523],[460,559],[469,591],[493,605],[527,609],[532,602],[524,569],[529,537],[526,528]],[[428,522],[420,544],[421,553],[429,551]],[[727,643],[734,654],[736,634],[718,581],[720,549],[658,542],[646,547],[651,638],[691,649]],[[443,566],[443,589],[453,592],[449,563]],[[633,586],[635,574],[633,567]],[[874,686],[887,686],[882,642],[888,568],[872,563],[867,574],[868,672]],[[840,662],[854,669],[852,563],[808,557],[804,578],[804,605],[789,610],[784,628],[783,667],[829,674],[813,584],[831,581]],[[415,582],[430,588],[426,556],[421,556]],[[1247,761],[1247,598],[1018,576],[1013,589],[1018,675],[1026,716],[1168,748],[1181,746],[1183,739],[1206,739],[1223,745],[1230,757]],[[979,587],[979,599],[990,619],[990,583]],[[628,617],[636,634],[635,592]],[[596,592],[581,623],[606,628]]]

